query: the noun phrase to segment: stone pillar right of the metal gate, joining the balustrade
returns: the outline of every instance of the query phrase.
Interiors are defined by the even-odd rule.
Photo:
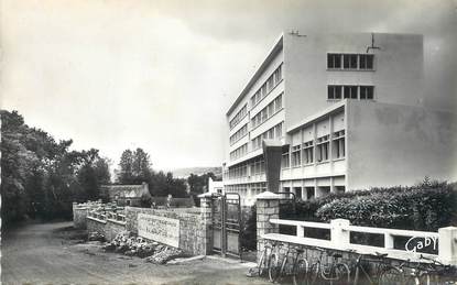
[[[280,227],[275,223],[270,223],[270,219],[280,218],[280,195],[264,191],[255,196],[257,207],[257,259],[259,261],[260,254],[263,251],[264,244],[261,240],[263,234],[279,233]]]

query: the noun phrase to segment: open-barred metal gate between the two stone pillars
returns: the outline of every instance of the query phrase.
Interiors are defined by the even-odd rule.
[[[241,205],[238,193],[215,195],[213,198],[213,251],[222,256],[241,257]]]

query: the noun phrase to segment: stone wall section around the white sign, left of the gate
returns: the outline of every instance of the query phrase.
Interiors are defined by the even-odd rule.
[[[152,215],[179,220],[179,249],[189,254],[206,254],[206,227],[200,212],[179,209],[149,209],[126,207],[126,229],[138,234],[138,215]]]

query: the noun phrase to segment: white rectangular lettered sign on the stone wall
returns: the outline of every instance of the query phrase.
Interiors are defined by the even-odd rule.
[[[178,248],[179,220],[139,213],[138,235]]]

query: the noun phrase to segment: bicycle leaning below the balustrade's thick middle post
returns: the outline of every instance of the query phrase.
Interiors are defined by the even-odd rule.
[[[309,284],[317,284],[317,279],[329,282],[330,284],[349,284],[350,270],[346,263],[339,262],[342,257],[340,253],[333,253],[330,250],[313,248],[320,252],[319,257],[311,265]],[[333,262],[324,263],[324,253],[331,256]],[[320,284],[320,283],[319,283]]]

